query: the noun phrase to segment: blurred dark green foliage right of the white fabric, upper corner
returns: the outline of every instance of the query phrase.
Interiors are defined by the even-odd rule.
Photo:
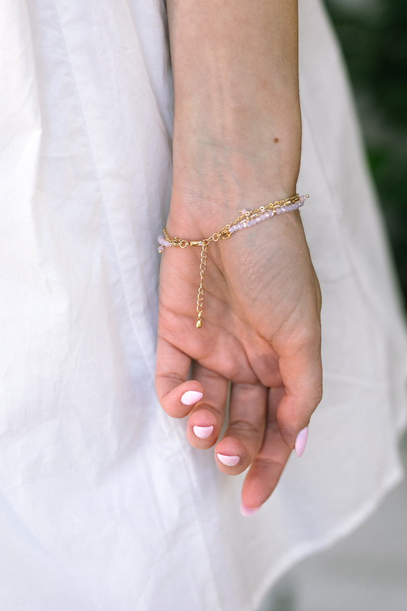
[[[407,303],[407,6],[325,0],[342,43]]]

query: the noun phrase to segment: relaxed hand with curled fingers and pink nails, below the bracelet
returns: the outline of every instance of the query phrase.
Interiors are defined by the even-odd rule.
[[[198,240],[223,226],[212,225],[207,233],[211,215],[195,221],[195,210],[181,206],[173,192],[168,234]],[[167,414],[189,414],[187,438],[193,447],[216,444],[222,472],[235,475],[251,465],[242,502],[254,509],[275,489],[322,396],[320,289],[300,214],[274,216],[209,245],[203,325],[196,329],[199,269],[200,247],[168,247],[162,254],[157,394]],[[191,360],[193,379],[188,380]],[[218,441],[228,381],[229,422]],[[203,397],[185,405],[181,397],[187,391]]]

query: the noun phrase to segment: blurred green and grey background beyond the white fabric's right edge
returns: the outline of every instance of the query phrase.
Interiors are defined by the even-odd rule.
[[[303,0],[306,2],[306,0]],[[342,45],[407,304],[406,0],[325,0]],[[400,445],[407,470],[407,439]],[[295,566],[261,611],[405,611],[407,483],[333,548]]]

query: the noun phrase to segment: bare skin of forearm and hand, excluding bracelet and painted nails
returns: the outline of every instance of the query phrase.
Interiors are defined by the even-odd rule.
[[[300,166],[297,2],[168,0],[175,84],[170,236],[201,240],[294,194]],[[156,389],[187,439],[215,445],[225,474],[250,466],[242,502],[275,489],[322,396],[320,289],[298,211],[211,243],[203,326],[200,248],[167,248],[160,269]],[[193,363],[193,379],[187,376]],[[228,384],[231,402],[225,419]],[[203,392],[185,406],[186,390]],[[214,426],[199,439],[193,426]],[[239,456],[234,467],[217,453]]]

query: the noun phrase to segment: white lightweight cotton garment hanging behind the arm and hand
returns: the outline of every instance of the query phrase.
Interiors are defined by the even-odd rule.
[[[325,394],[256,516],[154,392],[164,0],[1,0],[0,608],[253,611],[402,470],[407,343],[336,43],[300,2]],[[272,222],[272,221],[270,221]]]

